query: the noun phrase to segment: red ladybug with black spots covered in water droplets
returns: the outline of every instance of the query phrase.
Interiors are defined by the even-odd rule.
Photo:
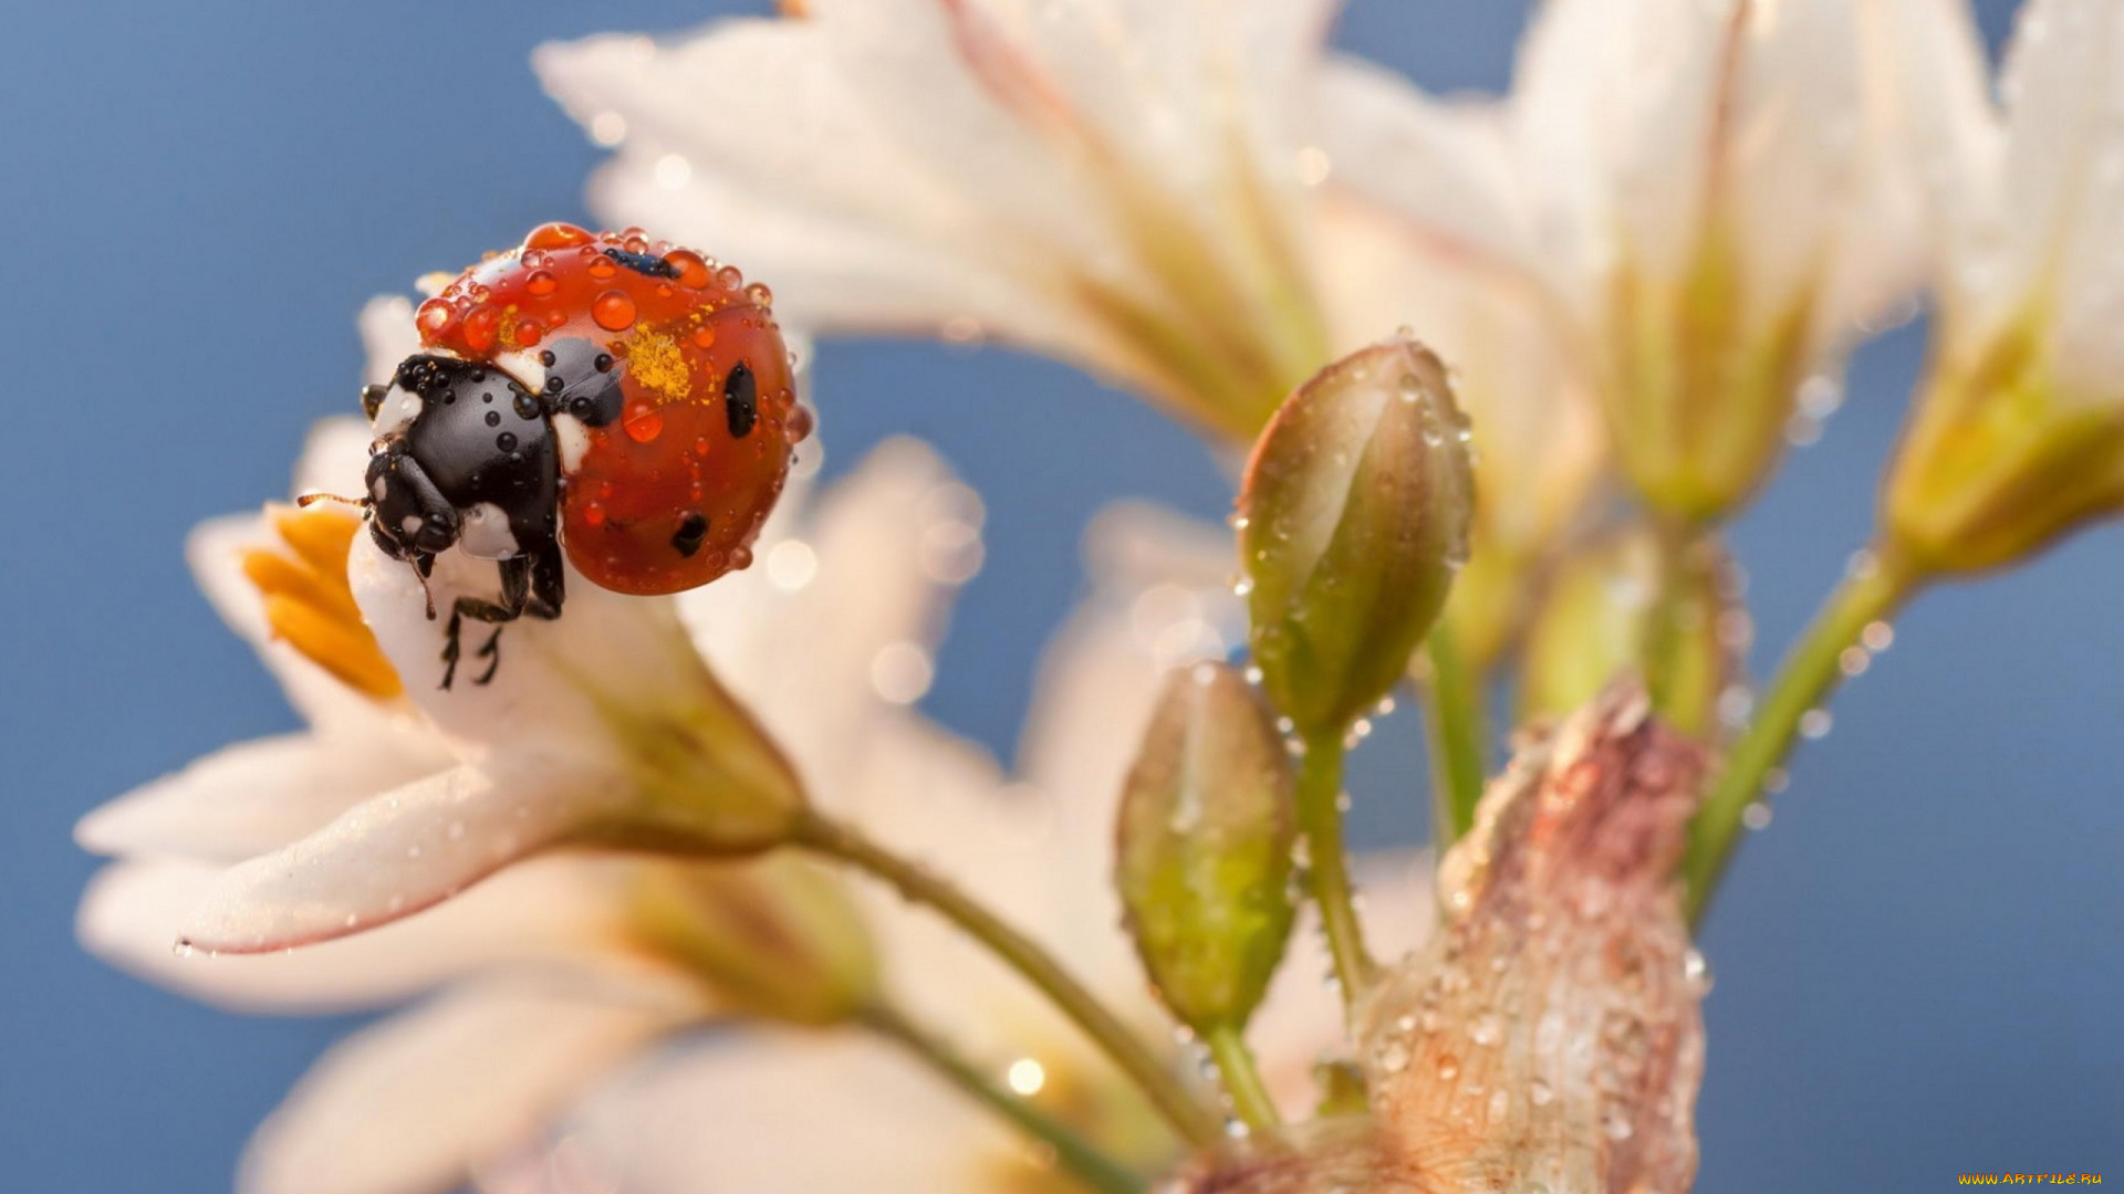
[[[421,351],[361,391],[374,425],[370,535],[427,582],[457,548],[491,559],[465,620],[559,618],[567,563],[616,593],[680,593],[752,563],[811,427],[767,287],[641,229],[533,229],[421,304]],[[435,616],[433,601],[429,618]]]

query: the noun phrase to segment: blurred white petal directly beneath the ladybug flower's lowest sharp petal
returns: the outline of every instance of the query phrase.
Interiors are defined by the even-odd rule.
[[[217,1007],[329,1013],[397,1003],[493,967],[607,958],[622,894],[607,860],[533,858],[376,933],[285,954],[172,950],[219,873],[176,860],[104,867],[81,897],[76,935],[106,962]]]

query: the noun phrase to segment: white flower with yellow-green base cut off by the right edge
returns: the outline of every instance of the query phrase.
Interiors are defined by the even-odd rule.
[[[2124,6],[2026,4],[2003,108],[1963,4],[1888,11],[1941,234],[1931,374],[1884,523],[1890,563],[1973,572],[2124,506]]]

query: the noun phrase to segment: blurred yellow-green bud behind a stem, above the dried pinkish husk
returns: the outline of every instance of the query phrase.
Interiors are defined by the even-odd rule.
[[[1561,718],[1625,673],[1665,678],[1663,716],[1706,741],[1718,731],[1718,695],[1740,673],[1746,614],[1727,599],[1725,550],[1699,542],[1661,580],[1652,531],[1631,527],[1565,557],[1527,625],[1519,671],[1519,716]],[[1667,608],[1657,610],[1661,591]],[[1667,625],[1665,656],[1650,659],[1652,620]]]

